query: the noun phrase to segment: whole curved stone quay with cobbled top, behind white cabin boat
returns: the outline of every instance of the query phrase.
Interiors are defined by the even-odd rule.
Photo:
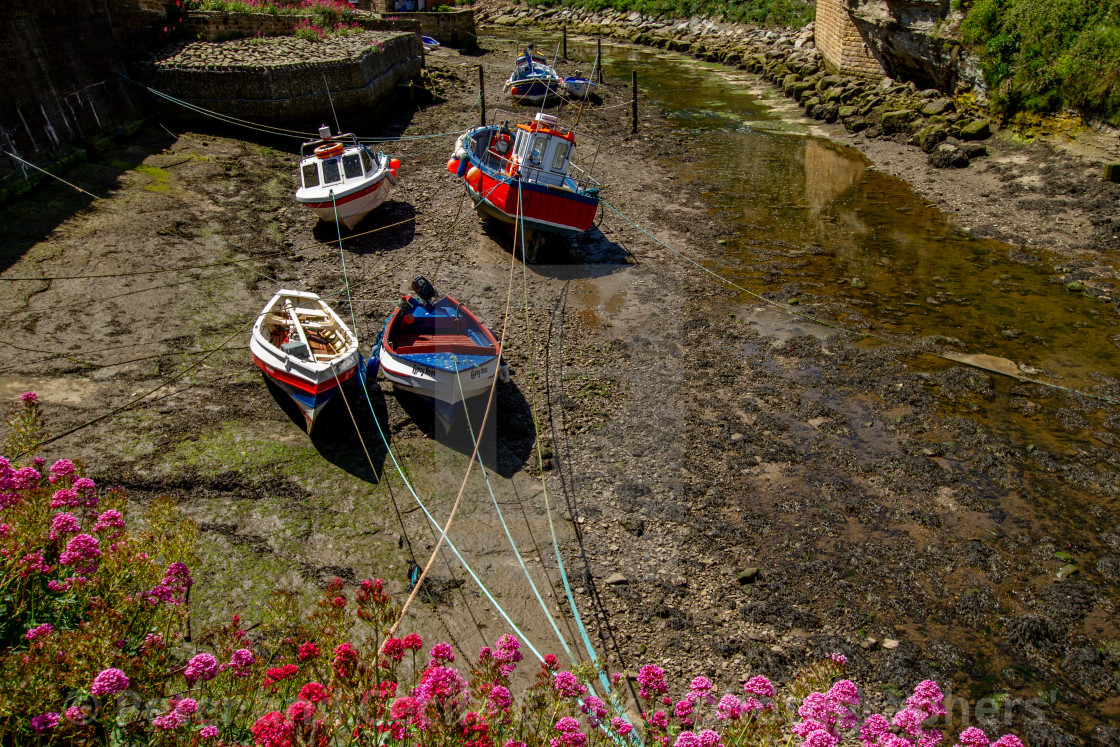
[[[308,41],[296,37],[190,43],[136,66],[144,85],[196,106],[265,124],[365,115],[420,74],[416,34],[365,31]],[[329,87],[329,94],[328,94]],[[180,105],[146,100],[162,116],[196,120]]]

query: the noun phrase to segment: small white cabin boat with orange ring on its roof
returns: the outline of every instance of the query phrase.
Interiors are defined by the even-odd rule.
[[[323,125],[318,140],[300,147],[301,186],[296,202],[324,221],[353,228],[385,202],[400,167],[398,159],[373,152],[354,133],[332,136],[330,128]]]

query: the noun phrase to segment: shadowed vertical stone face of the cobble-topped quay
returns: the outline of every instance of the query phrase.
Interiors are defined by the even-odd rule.
[[[330,113],[332,101],[339,118],[367,115],[420,74],[422,50],[416,34],[380,34],[382,52],[370,47],[367,34],[354,39],[362,52],[352,58],[318,63],[270,60],[252,65],[176,65],[146,63],[136,74],[144,85],[221,114],[268,124],[306,123]],[[329,96],[327,93],[329,86]],[[161,115],[198,119],[189,110],[152,99]]]

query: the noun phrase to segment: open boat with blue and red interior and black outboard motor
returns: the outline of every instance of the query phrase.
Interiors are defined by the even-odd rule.
[[[377,335],[381,371],[399,391],[432,400],[448,423],[454,405],[488,392],[495,376],[508,381],[510,367],[494,333],[470,309],[439,296],[422,276],[412,290]]]

